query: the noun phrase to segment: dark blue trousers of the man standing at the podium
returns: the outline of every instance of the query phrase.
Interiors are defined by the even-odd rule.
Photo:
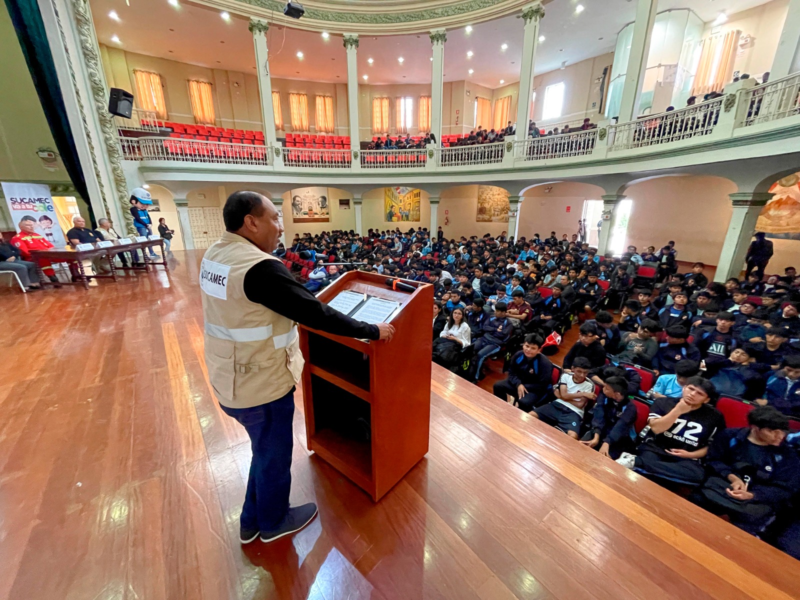
[[[247,430],[253,460],[240,522],[243,529],[277,529],[289,510],[292,485],[294,388],[273,402],[222,410]]]

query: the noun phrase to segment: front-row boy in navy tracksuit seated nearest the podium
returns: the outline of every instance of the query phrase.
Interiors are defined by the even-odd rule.
[[[508,378],[494,384],[494,395],[510,395],[526,413],[546,402],[553,391],[553,363],[540,353],[542,338],[526,335],[522,350],[511,357]]]

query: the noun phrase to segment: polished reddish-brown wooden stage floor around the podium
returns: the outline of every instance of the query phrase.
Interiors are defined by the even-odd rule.
[[[298,395],[319,518],[240,546],[250,449],[206,378],[201,253],[175,254],[0,289],[0,598],[800,598],[794,559],[436,366],[430,452],[377,505],[309,456]]]

